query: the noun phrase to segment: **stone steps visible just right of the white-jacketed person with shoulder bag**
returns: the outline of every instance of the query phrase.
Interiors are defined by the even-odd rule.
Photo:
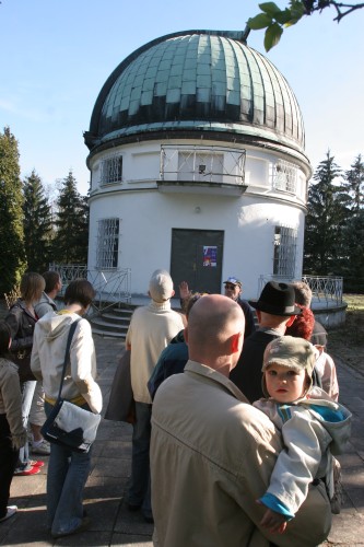
[[[134,305],[122,304],[120,307],[110,307],[106,312],[91,317],[90,323],[93,334],[125,340],[136,307]]]

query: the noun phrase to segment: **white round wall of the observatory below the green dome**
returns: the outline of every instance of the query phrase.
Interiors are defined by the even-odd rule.
[[[186,143],[195,146],[196,141]],[[102,161],[119,153],[122,182],[102,185]],[[259,276],[273,272],[275,225],[296,229],[295,277],[301,278],[306,176],[298,170],[295,195],[273,190],[272,165],[280,159],[284,159],[282,154],[247,149],[248,188],[245,194],[227,196],[223,189],[221,195],[211,195],[209,187],[198,189],[198,194],[191,194],[188,187],[174,188],[177,193],[161,191],[160,142],[128,144],[97,154],[91,160],[89,269],[96,265],[98,220],[118,218],[118,268],[131,268],[133,294],[146,293],[153,270],[169,270],[173,229],[224,231],[222,282],[232,275],[239,277],[245,298],[256,298]]]

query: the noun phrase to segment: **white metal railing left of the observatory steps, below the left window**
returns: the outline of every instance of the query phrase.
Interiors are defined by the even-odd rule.
[[[57,271],[62,280],[61,295],[74,279],[87,279],[96,296],[92,312],[101,313],[108,307],[130,303],[131,301],[131,269],[124,268],[111,271],[89,270],[83,264],[50,264],[49,270]],[[94,313],[89,314],[93,315]]]

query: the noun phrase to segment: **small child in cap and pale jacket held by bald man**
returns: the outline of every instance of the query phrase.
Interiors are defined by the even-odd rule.
[[[342,453],[350,437],[351,414],[320,387],[313,386],[314,346],[282,336],[266,348],[262,387],[267,398],[254,403],[282,432],[279,454],[267,492],[261,525],[282,534],[307,496],[312,482],[325,482],[334,499],[332,454]],[[333,504],[331,502],[331,511]]]

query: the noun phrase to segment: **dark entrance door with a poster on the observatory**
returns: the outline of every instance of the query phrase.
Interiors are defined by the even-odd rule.
[[[172,230],[171,276],[178,294],[180,281],[192,291],[220,293],[224,232]]]

